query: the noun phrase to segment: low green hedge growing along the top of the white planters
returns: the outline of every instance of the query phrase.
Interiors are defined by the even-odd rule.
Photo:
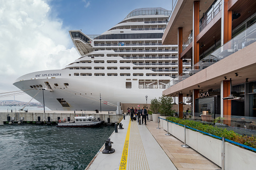
[[[220,137],[225,137],[226,139],[233,140],[235,142],[256,148],[256,137],[255,136],[242,136],[238,133],[235,133],[233,130],[227,130],[226,128],[219,128],[219,127],[214,127],[210,124],[203,124],[199,121],[194,121],[194,120],[184,120],[184,119],[179,119],[176,117],[167,117],[167,120],[170,120],[175,123],[179,123],[182,125],[186,125],[216,136]],[[218,118],[217,118],[218,119]],[[220,120],[222,118],[219,118]]]

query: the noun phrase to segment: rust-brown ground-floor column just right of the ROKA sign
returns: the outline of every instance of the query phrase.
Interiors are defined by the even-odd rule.
[[[231,100],[223,100],[223,97],[230,95],[230,81],[223,80],[221,82],[221,115],[224,118],[223,123],[231,125]]]

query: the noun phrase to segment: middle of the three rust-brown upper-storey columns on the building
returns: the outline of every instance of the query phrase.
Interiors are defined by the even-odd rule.
[[[199,1],[194,1],[193,4],[193,61],[194,65],[199,62],[199,43],[197,43],[197,36],[199,35],[199,8],[200,2]]]

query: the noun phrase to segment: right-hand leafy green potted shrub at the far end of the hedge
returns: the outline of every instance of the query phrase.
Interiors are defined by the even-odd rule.
[[[172,97],[159,97],[159,113],[163,116],[173,116],[175,110],[172,110]]]

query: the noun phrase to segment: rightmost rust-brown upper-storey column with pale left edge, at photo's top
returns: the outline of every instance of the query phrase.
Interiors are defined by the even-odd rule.
[[[221,4],[221,46],[232,38],[232,11],[228,11],[228,1]]]

